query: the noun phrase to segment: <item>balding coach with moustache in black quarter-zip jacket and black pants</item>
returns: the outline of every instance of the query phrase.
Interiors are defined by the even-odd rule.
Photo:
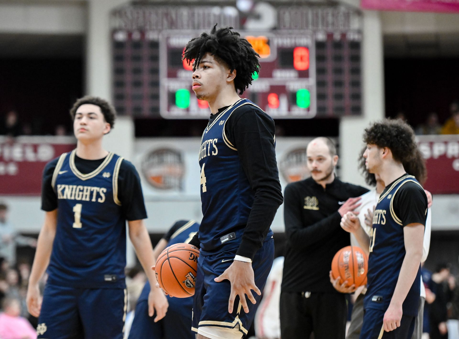
[[[341,217],[359,206],[366,192],[335,177],[336,147],[328,138],[307,148],[311,178],[290,183],[284,194],[287,237],[280,294],[282,339],[344,339],[345,295],[333,288],[329,272],[336,252],[350,245]]]

